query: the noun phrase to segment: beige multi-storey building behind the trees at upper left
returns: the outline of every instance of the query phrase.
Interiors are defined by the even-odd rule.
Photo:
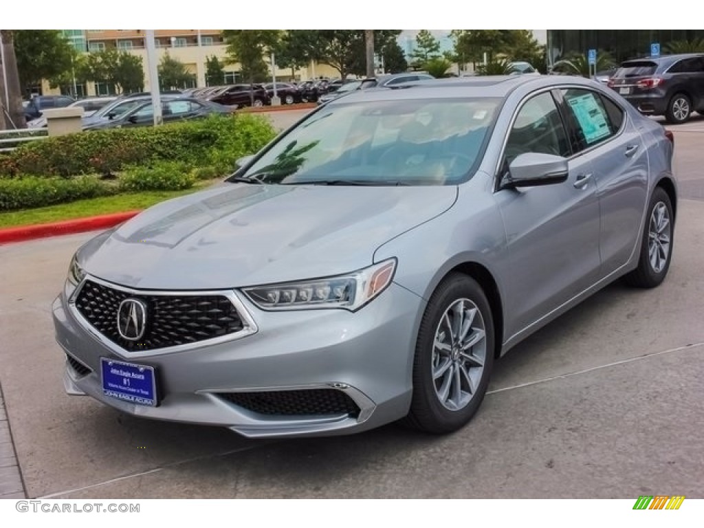
[[[156,60],[168,53],[172,58],[186,65],[189,73],[194,75],[193,87],[206,86],[206,58],[216,56],[225,63],[225,75],[219,84],[234,84],[241,82],[239,64],[227,64],[226,46],[222,42],[222,30],[154,30],[156,44]],[[144,68],[144,89],[149,91],[149,63],[146,57],[146,30],[63,30],[64,37],[78,51],[92,53],[105,49],[118,49],[142,57]],[[271,71],[271,67],[270,67]],[[277,80],[290,81],[290,68],[277,68]],[[308,80],[315,77],[337,77],[337,70],[327,64],[316,64],[311,61],[308,68],[296,70],[296,80]],[[73,92],[73,88],[71,89]],[[104,84],[87,83],[87,86],[77,84],[79,96],[106,95],[112,87]],[[48,82],[42,84],[42,93],[59,93],[60,89],[51,89]]]

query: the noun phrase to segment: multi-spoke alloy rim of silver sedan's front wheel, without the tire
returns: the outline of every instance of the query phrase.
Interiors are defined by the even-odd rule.
[[[486,363],[486,327],[482,313],[468,298],[454,301],[435,330],[432,379],[435,395],[448,410],[465,408]]]

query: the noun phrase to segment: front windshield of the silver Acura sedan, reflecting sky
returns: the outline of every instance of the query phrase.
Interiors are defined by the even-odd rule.
[[[327,106],[236,176],[274,184],[458,183],[478,164],[500,101],[425,99]]]

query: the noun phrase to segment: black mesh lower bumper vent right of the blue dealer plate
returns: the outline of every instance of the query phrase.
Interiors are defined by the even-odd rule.
[[[359,415],[353,399],[335,389],[226,392],[218,396],[260,415]]]

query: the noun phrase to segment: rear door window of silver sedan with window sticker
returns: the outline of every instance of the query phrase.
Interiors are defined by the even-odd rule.
[[[580,149],[603,142],[618,132],[620,126],[611,122],[601,96],[577,88],[562,89],[562,94],[577,127]]]

